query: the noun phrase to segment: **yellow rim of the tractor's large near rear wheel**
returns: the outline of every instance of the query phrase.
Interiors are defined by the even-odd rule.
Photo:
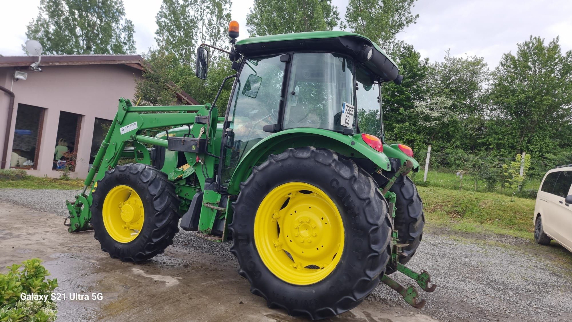
[[[336,268],[344,225],[332,199],[304,182],[272,189],[256,212],[254,240],[266,267],[296,285],[317,283]]]

